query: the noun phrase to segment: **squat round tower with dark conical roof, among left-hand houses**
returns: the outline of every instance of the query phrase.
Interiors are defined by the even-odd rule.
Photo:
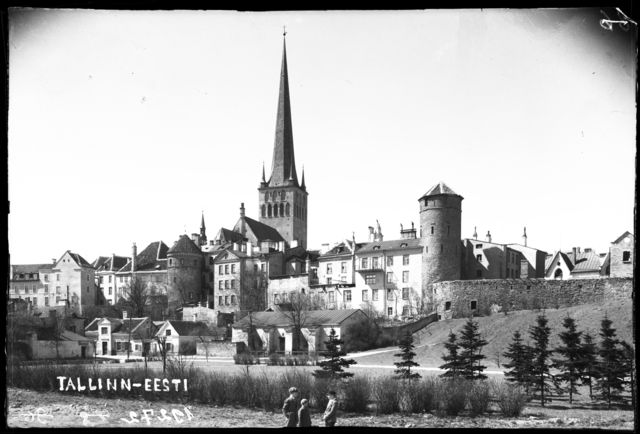
[[[187,236],[181,235],[167,252],[168,302],[170,307],[203,301],[203,254]]]

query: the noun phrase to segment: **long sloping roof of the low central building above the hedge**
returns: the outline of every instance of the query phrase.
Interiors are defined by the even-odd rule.
[[[306,312],[305,326],[335,326],[360,309],[340,310],[311,310]],[[364,312],[362,312],[364,314]],[[285,312],[255,312],[251,314],[251,323],[256,327],[288,327],[291,326],[291,318]],[[249,316],[233,324],[233,328],[243,328],[249,325]]]

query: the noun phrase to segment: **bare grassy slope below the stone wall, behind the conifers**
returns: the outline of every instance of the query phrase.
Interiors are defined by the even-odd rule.
[[[567,315],[576,320],[578,330],[590,333],[595,342],[599,343],[600,321],[605,312],[609,319],[613,321],[613,327],[617,330],[618,338],[624,339],[629,343],[633,342],[631,300],[624,303],[605,302],[561,309],[547,309],[544,312],[549,320],[549,327],[551,327],[551,347],[555,347],[560,343],[558,333],[564,330],[562,321]],[[480,325],[482,336],[489,342],[483,351],[483,354],[487,357],[485,365],[489,369],[496,369],[498,368],[498,363],[502,364],[507,361],[502,357],[502,353],[511,343],[514,331],[520,330],[525,342],[528,342],[529,327],[535,324],[536,317],[540,314],[541,312],[539,311],[524,310],[509,312],[507,315],[498,313],[492,316],[475,318]],[[415,360],[421,366],[440,366],[443,363],[441,356],[445,352],[443,344],[447,340],[449,331],[453,330],[454,333],[459,334],[465,322],[466,319],[438,321],[417,332],[414,335],[415,352],[417,354]],[[393,357],[394,352],[388,351],[359,357],[357,360],[360,364],[390,365],[397,361]]]

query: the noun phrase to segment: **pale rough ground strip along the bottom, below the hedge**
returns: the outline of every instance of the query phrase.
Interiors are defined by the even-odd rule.
[[[149,402],[39,393],[8,388],[7,423],[10,427],[280,427],[278,413],[231,406]],[[145,416],[146,414],[146,416]],[[321,426],[320,414],[312,423]],[[424,428],[607,428],[633,429],[632,411],[525,410],[523,416],[439,418],[431,414],[388,416],[340,414],[341,426]]]

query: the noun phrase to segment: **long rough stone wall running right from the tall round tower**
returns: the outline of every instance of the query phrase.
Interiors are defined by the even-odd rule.
[[[489,315],[492,310],[554,309],[604,300],[630,300],[633,280],[454,280],[438,282],[433,288],[438,318],[449,319],[465,318],[471,313]]]

